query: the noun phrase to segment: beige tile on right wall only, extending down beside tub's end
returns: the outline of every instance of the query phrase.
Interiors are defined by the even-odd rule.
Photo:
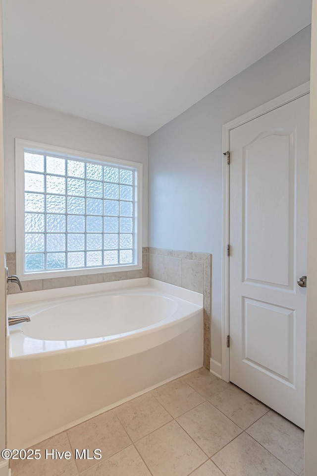
[[[150,278],[204,295],[204,367],[211,357],[211,254],[148,248]]]

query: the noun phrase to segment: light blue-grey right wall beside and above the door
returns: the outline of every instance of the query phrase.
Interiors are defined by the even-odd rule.
[[[221,127],[308,81],[310,39],[307,27],[149,137],[149,246],[212,254],[211,357],[218,362]]]

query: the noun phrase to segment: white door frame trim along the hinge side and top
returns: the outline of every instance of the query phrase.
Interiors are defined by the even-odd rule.
[[[278,96],[277,98],[249,111],[222,126],[222,379],[229,382],[230,378],[230,347],[227,347],[227,336],[230,335],[230,256],[227,256],[227,245],[230,244],[230,165],[227,163],[227,151],[230,152],[230,131],[250,120],[257,119],[266,113],[280,108],[295,99],[310,93],[310,81]]]

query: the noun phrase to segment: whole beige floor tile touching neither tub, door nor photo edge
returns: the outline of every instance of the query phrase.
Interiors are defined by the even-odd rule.
[[[208,456],[214,455],[242,431],[209,402],[190,410],[177,421]]]

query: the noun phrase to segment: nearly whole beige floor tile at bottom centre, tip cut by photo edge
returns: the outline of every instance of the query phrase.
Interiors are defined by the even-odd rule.
[[[175,420],[135,445],[153,476],[186,476],[208,459]]]

